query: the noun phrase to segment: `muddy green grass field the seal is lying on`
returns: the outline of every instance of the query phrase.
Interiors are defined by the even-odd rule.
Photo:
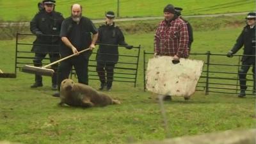
[[[215,19],[215,18],[214,18]],[[189,19],[195,27],[214,19]],[[229,19],[223,17],[223,19]],[[234,18],[234,22],[236,19]],[[156,24],[156,21],[153,21]],[[129,22],[120,23],[129,25]],[[153,25],[154,25],[153,24]],[[195,24],[195,25],[194,25]],[[214,25],[214,24],[212,24]],[[123,25],[122,25],[123,26]],[[224,53],[230,50],[242,26],[221,25],[196,28],[192,52]],[[129,44],[141,44],[142,51],[153,52],[154,31],[125,33]],[[0,68],[13,72],[15,40],[0,42]],[[193,57],[192,57],[193,58]],[[232,61],[226,57],[216,62]],[[113,83],[111,97],[122,104],[104,108],[60,108],[51,97],[51,79],[44,87],[31,89],[34,76],[18,72],[17,79],[0,79],[0,140],[22,143],[130,143],[166,138],[159,104],[150,92],[143,92],[142,55],[138,84]],[[98,88],[98,81],[90,81]],[[107,92],[106,92],[107,93]],[[191,100],[173,97],[164,102],[172,137],[255,128],[255,99],[246,96],[196,92]]]

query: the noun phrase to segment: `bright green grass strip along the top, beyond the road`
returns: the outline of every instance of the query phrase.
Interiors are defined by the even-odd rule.
[[[38,0],[1,0],[0,20],[31,20],[38,11]],[[63,13],[64,17],[70,15],[70,6],[79,3],[84,7],[83,15],[92,19],[102,19],[108,10],[116,12],[117,1],[67,1],[58,0],[56,11]],[[207,0],[207,1],[179,1],[174,0],[120,0],[120,17],[157,17],[163,15],[163,8],[166,4],[172,3],[175,6],[184,8],[184,15],[202,15],[215,13],[248,12],[255,10],[253,0]]]

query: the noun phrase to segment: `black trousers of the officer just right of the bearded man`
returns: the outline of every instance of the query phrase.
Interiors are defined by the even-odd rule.
[[[96,70],[100,79],[100,83],[107,82],[108,88],[111,88],[113,83],[114,68],[115,68],[115,63],[113,62],[97,61]],[[106,76],[107,76],[107,79],[106,79]]]

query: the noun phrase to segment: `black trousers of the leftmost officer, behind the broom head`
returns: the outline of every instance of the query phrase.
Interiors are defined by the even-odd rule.
[[[41,67],[42,66],[42,60],[44,60],[45,56],[47,55],[47,53],[35,53],[35,58],[33,60],[33,63],[35,65],[35,67]],[[58,53],[49,53],[49,58],[51,63],[54,61],[57,61],[60,59],[60,54]],[[52,84],[57,84],[57,70],[58,70],[58,63],[55,65],[52,65],[51,68],[54,70],[54,74],[52,76]],[[42,83],[42,76],[40,75],[35,75],[35,82],[36,83]]]

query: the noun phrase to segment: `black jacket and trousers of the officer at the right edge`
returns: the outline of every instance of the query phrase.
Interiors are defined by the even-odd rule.
[[[239,69],[239,81],[241,90],[246,90],[246,74],[250,68],[253,66],[253,90],[255,90],[255,26],[250,28],[250,26],[245,26],[242,33],[236,40],[236,44],[232,48],[232,52],[235,54],[244,45],[243,57],[241,59],[242,66]],[[254,56],[246,56],[254,55]]]

